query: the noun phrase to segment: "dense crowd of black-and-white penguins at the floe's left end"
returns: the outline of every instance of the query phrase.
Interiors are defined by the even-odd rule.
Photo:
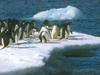
[[[10,43],[17,43],[18,40],[29,37],[34,28],[34,20],[0,20],[0,45],[5,48]]]

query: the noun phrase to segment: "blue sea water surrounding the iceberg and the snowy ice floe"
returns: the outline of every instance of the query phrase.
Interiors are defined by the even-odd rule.
[[[100,0],[0,0],[0,18],[27,18],[67,5],[79,8],[87,17],[73,21],[72,31],[100,37]],[[68,51],[45,66],[49,67],[46,74],[40,75],[100,75],[100,47]]]

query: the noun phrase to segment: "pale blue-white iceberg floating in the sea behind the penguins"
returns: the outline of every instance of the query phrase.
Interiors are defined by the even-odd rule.
[[[73,6],[66,8],[53,8],[50,10],[42,11],[33,16],[35,20],[71,20],[82,17],[82,12]]]

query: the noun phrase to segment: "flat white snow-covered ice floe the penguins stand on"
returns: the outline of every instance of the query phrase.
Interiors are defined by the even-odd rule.
[[[51,57],[52,52],[57,56],[67,50],[81,47],[92,49],[99,45],[99,37],[78,32],[73,32],[69,39],[51,40],[48,43],[40,43],[38,40],[29,38],[24,39],[17,44],[11,44],[7,48],[0,49],[0,75],[11,75],[8,73],[23,70],[21,73],[18,71],[19,74],[14,73],[22,75],[28,71],[24,71],[24,69],[43,67]]]

